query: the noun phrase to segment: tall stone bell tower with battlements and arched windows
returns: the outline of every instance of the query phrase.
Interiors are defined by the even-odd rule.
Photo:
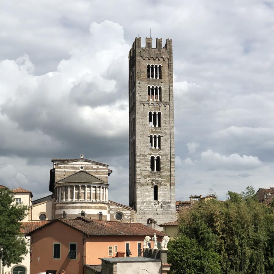
[[[162,230],[175,220],[172,39],[136,37],[128,58],[129,205]]]

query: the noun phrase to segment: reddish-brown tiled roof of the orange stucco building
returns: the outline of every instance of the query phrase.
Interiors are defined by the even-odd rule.
[[[87,220],[80,217],[77,217],[76,219],[57,218],[50,221],[49,223],[56,222],[56,221],[64,223],[88,236],[105,236],[105,235],[111,235],[111,236],[150,235],[152,236],[154,233],[156,233],[157,236],[166,235],[163,232],[146,227],[145,225],[141,223],[120,223],[118,221]],[[47,224],[45,224],[44,226],[46,226]],[[39,229],[42,229],[44,226],[39,227]],[[30,234],[32,234],[36,230],[31,231],[30,233],[27,234],[27,236],[30,236]]]

